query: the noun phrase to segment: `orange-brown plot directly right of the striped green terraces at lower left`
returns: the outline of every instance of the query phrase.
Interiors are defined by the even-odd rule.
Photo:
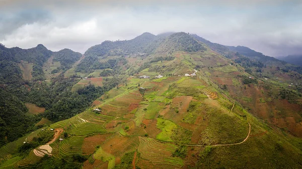
[[[96,134],[90,137],[84,138],[82,145],[83,154],[92,154],[95,151],[97,145],[101,145],[112,134]]]

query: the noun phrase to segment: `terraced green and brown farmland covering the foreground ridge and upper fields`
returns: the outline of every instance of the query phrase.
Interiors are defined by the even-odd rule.
[[[300,139],[258,120],[211,81],[244,74],[241,67],[214,53],[174,55],[138,73],[166,77],[130,76],[86,111],[1,147],[0,168],[31,166],[45,154],[77,164],[72,157],[83,155],[83,168],[302,167]],[[185,77],[196,64],[196,76]],[[18,153],[49,133],[46,144]]]

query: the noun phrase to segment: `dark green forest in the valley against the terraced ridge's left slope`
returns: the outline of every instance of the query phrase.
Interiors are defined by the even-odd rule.
[[[35,84],[32,87],[28,101],[40,107],[45,107],[44,117],[51,121],[60,121],[83,112],[96,98],[109,91],[121,82],[121,77],[106,79],[104,86],[86,86],[77,92],[71,92],[72,86],[78,82],[75,78],[58,76],[48,85]]]

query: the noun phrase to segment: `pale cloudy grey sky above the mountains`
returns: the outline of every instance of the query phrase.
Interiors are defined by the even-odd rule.
[[[268,56],[302,54],[300,0],[0,0],[0,43],[81,52],[144,32],[197,34]]]

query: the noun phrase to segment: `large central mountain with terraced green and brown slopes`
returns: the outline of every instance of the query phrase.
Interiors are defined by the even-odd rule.
[[[301,168],[302,76],[274,62],[183,32],[105,41],[28,83],[16,104],[52,122],[6,141],[0,168]]]

